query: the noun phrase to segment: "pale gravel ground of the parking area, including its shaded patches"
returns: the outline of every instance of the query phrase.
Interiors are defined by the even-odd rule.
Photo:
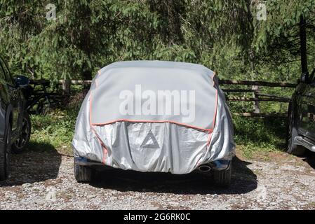
[[[314,163],[286,153],[236,157],[232,185],[222,190],[203,174],[118,169],[76,183],[72,157],[29,151],[13,155],[11,177],[0,182],[0,209],[315,209]]]

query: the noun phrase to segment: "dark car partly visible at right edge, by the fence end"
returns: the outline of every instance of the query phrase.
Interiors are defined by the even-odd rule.
[[[315,69],[303,73],[289,105],[288,153],[315,152]]]

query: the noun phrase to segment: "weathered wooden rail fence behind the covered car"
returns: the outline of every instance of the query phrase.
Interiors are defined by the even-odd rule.
[[[33,80],[32,83],[42,82],[43,80]],[[70,94],[71,85],[91,85],[92,80],[59,80],[59,84],[62,85],[63,94]],[[265,81],[249,81],[249,80],[219,80],[220,87],[226,94],[227,101],[241,101],[241,102],[255,102],[255,105],[259,105],[259,102],[279,102],[289,103],[290,97],[276,96],[271,94],[263,94],[259,87],[286,87],[295,88],[295,83],[271,83]],[[224,88],[228,85],[233,86],[246,86],[247,88]],[[255,86],[256,88],[252,88]],[[250,88],[249,88],[250,87]],[[235,97],[231,94],[235,93],[251,93],[253,97]],[[286,117],[287,113],[234,113],[234,116],[244,117]]]

